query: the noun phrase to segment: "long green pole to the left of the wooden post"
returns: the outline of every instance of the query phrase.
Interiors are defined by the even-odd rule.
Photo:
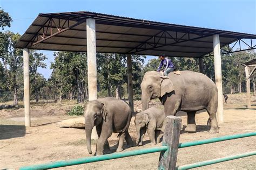
[[[21,167],[19,169],[58,168],[58,167],[86,164],[86,163],[90,163],[90,162],[97,162],[97,161],[103,161],[103,160],[109,160],[109,159],[131,157],[131,156],[140,155],[140,154],[167,151],[167,149],[168,149],[168,146],[158,146],[158,147],[152,147],[152,148],[145,148],[143,150],[105,154],[105,155],[100,155],[100,156],[96,156],[96,157],[86,157],[86,158],[79,158],[79,159],[73,159],[73,160],[67,160],[67,161],[65,161],[65,160],[64,161],[56,161],[56,162],[51,162],[49,164],[31,165],[31,166]]]

